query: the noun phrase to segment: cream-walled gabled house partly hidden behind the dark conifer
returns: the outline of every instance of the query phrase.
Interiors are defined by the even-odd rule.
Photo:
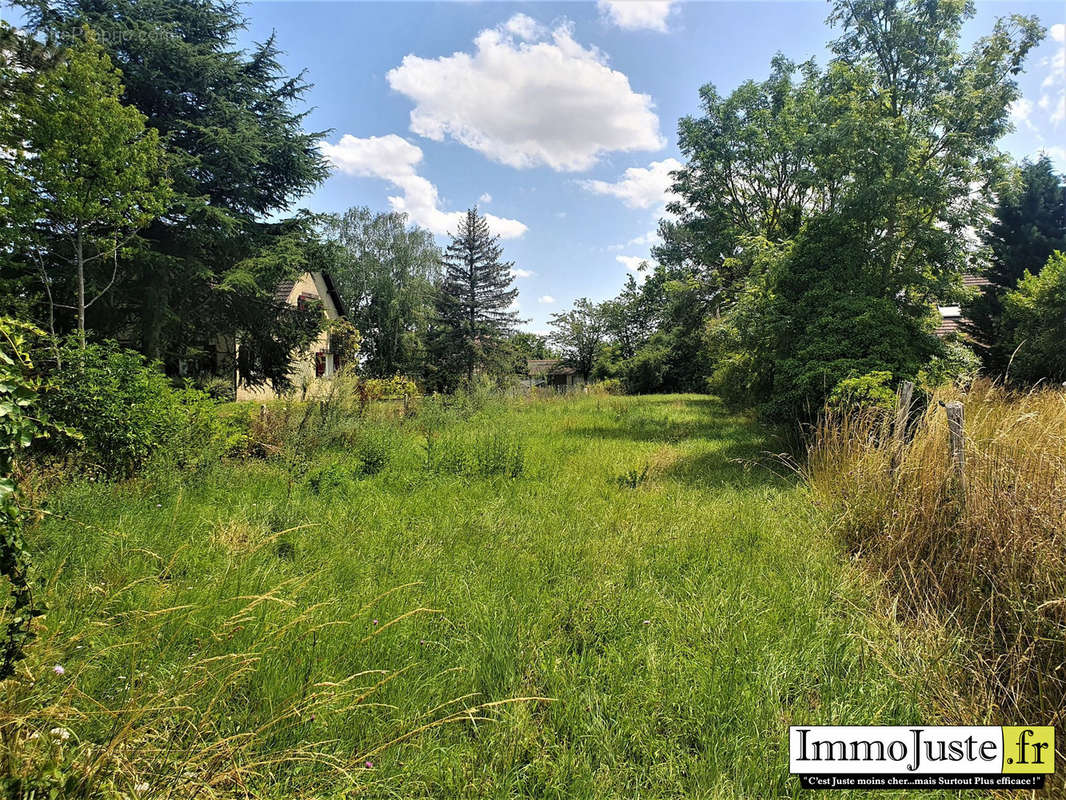
[[[344,316],[344,305],[328,272],[305,272],[294,279],[282,281],[274,290],[274,301],[279,305],[290,305],[295,308],[303,308],[307,303],[319,303],[327,320]],[[226,345],[230,348],[229,363],[236,365],[239,345],[236,338],[231,337],[226,337]],[[329,378],[339,366],[329,332],[322,331],[318,338],[293,361],[289,375],[292,384],[300,387],[314,378]],[[237,384],[238,400],[265,400],[276,395],[270,384],[242,386],[237,379],[236,367],[233,381]]]

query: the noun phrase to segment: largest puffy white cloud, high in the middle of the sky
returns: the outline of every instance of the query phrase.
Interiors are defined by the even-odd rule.
[[[479,33],[472,53],[406,55],[386,79],[415,102],[413,132],[451,137],[518,169],[575,172],[604,153],[665,146],[651,97],[576,42],[568,25],[548,33],[512,17]]]

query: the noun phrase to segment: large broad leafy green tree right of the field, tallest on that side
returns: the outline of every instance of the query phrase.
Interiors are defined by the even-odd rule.
[[[837,0],[823,77],[778,60],[758,91],[705,90],[681,223],[657,256],[704,268],[693,297],[720,387],[794,419],[842,380],[915,378],[942,353],[932,307],[963,293],[966,233],[986,218],[1014,76],[1041,35],[1012,16],[964,52],[972,14],[966,0]]]

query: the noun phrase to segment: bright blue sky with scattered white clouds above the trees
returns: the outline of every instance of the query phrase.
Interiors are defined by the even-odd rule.
[[[330,130],[333,176],[297,205],[406,210],[447,241],[455,212],[491,214],[520,271],[527,327],[576,298],[614,295],[649,253],[677,121],[698,90],[765,77],[784,52],[825,63],[828,5],[796,2],[253,2],[243,43],[277,32],[313,84],[307,125]],[[1015,156],[1066,171],[1066,4],[978,2],[1035,14],[1050,35],[1020,76]],[[1054,28],[1052,28],[1054,26]],[[628,171],[628,172],[627,172]]]

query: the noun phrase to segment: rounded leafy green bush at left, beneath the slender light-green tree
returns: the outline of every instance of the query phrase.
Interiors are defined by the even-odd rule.
[[[48,370],[41,405],[81,439],[53,439],[113,476],[128,476],[171,448],[180,464],[204,454],[215,431],[213,403],[196,389],[175,389],[158,368],[115,342],[81,350],[67,340]]]

